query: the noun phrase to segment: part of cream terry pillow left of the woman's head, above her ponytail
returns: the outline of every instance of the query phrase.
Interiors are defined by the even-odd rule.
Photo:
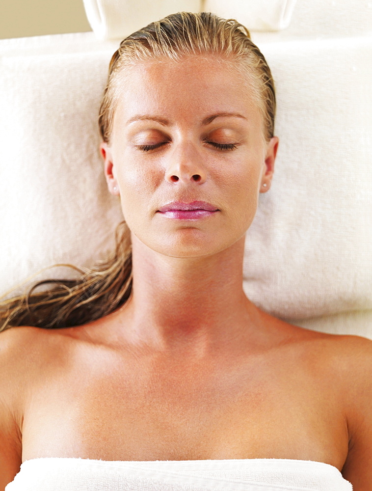
[[[41,268],[89,266],[113,247],[122,213],[98,150],[113,51],[0,57],[0,295]],[[71,275],[56,268],[35,280]]]

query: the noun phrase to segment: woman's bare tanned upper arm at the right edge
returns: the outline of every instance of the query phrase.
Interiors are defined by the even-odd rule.
[[[372,341],[347,336],[345,406],[349,449],[342,469],[353,491],[372,490]]]

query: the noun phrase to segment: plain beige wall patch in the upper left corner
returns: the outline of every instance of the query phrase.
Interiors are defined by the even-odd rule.
[[[91,30],[82,0],[0,0],[0,39]]]

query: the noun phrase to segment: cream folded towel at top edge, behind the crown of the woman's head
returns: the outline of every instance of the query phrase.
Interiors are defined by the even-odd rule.
[[[169,14],[200,12],[199,0],[83,0],[98,39],[119,39]],[[296,0],[206,0],[205,12],[237,18],[252,31],[276,31],[290,25]]]

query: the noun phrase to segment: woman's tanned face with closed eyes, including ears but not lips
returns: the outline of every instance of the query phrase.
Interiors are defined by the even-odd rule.
[[[173,257],[235,244],[269,188],[278,144],[263,139],[250,82],[212,57],[193,56],[131,67],[120,83],[110,146],[103,142],[101,152],[131,233]],[[220,113],[240,116],[212,117]],[[207,201],[218,211],[171,218],[159,212],[171,201]]]

